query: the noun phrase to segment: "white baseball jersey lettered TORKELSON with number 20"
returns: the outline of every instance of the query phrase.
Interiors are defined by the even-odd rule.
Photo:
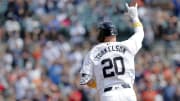
[[[135,34],[122,42],[104,42],[94,46],[84,59],[80,84],[95,79],[97,90],[116,84],[133,86],[135,79],[134,57],[142,46],[144,32],[135,28]]]

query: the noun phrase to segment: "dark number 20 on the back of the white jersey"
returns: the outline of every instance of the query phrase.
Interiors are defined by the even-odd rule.
[[[121,63],[121,68],[117,65],[118,61]],[[124,61],[122,57],[114,57],[113,59],[107,58],[102,60],[101,64],[108,64],[107,66],[103,67],[104,78],[113,77],[115,75],[123,75],[125,73]],[[109,72],[107,73],[107,71]]]

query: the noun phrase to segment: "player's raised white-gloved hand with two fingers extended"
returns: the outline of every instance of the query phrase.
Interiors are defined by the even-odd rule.
[[[129,6],[128,3],[126,3],[126,8],[128,10],[128,15],[131,19],[138,19],[138,10],[137,10],[137,3],[135,6]]]

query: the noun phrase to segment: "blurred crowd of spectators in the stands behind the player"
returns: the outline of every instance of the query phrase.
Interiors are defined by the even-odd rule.
[[[118,40],[133,34],[131,0],[0,0],[0,101],[98,101],[79,70],[108,17]],[[180,0],[137,0],[144,25],[138,101],[180,101]]]

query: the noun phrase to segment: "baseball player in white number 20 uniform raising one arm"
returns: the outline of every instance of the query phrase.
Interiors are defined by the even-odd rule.
[[[98,90],[101,101],[136,101],[134,57],[142,46],[143,26],[138,18],[137,4],[128,6],[135,34],[116,42],[116,29],[110,21],[99,25],[99,41],[84,59],[80,71],[81,85]]]

